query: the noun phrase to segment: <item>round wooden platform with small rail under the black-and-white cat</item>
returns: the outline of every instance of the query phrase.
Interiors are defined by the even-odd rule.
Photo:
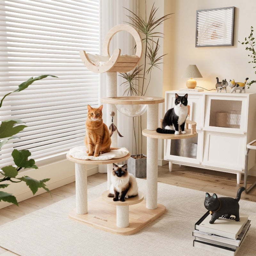
[[[149,138],[154,138],[154,139],[167,139],[167,140],[180,140],[180,139],[188,139],[188,138],[193,138],[196,136],[197,132],[191,133],[191,130],[185,129],[186,133],[185,134],[166,134],[166,133],[158,133],[156,130],[147,130],[144,129],[142,130],[142,135],[149,137]]]

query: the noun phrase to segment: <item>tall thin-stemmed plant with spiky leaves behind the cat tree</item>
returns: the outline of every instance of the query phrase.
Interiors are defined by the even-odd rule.
[[[140,96],[145,96],[148,86],[150,84],[151,80],[151,71],[154,68],[159,68],[159,64],[162,63],[164,55],[159,56],[159,38],[163,37],[163,33],[157,32],[156,28],[159,27],[161,24],[163,24],[164,20],[167,20],[170,18],[170,14],[164,15],[160,18],[156,17],[156,12],[158,8],[155,7],[155,3],[153,4],[149,16],[147,18],[147,5],[145,1],[145,17],[142,17],[142,15],[139,13],[137,15],[135,12],[130,11],[129,9],[125,8],[127,11],[131,13],[131,15],[126,15],[130,22],[127,22],[128,24],[131,24],[137,30],[143,35],[142,42],[145,43],[145,52],[144,54],[144,64],[141,65],[140,71],[138,72],[138,69],[134,69],[131,72],[128,73],[121,73],[121,76],[126,80],[126,82],[122,83],[125,84],[126,86],[128,85],[128,88],[125,90],[124,93],[127,91],[130,92],[131,96],[132,95],[140,95]],[[135,72],[136,71],[136,72]],[[140,72],[143,71],[141,74]],[[134,76],[134,72],[137,73],[136,76]],[[145,80],[146,80],[146,73],[149,75],[148,78],[148,84],[145,89]],[[138,86],[134,86],[135,80],[138,80],[136,77],[142,79],[142,86],[141,90],[139,91],[137,88]],[[131,80],[132,78],[132,80]],[[134,127],[134,118],[133,118],[133,127]],[[134,130],[134,129],[133,129]],[[141,116],[140,116],[140,130],[142,131],[141,127]],[[135,137],[135,130],[134,130],[134,137]],[[135,137],[135,147],[136,147],[136,157],[137,158],[143,158],[144,156],[142,155],[142,132],[141,132],[141,144],[140,144],[140,155],[137,156],[137,142],[136,142],[136,137]]]

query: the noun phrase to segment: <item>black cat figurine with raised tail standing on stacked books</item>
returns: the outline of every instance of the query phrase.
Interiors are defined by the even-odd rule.
[[[239,221],[239,200],[242,192],[245,190],[241,187],[237,191],[236,198],[232,197],[217,197],[216,194],[210,196],[209,193],[205,194],[204,207],[212,214],[212,219],[209,221],[210,224],[214,223],[215,220],[220,218],[222,215],[230,218],[230,215],[235,215],[236,221]]]

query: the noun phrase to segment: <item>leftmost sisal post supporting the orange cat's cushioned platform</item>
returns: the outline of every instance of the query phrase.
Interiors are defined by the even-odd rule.
[[[86,214],[87,209],[87,170],[85,164],[75,164],[76,170],[76,213]]]

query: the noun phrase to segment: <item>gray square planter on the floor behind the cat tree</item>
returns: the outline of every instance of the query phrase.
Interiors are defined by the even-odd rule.
[[[131,156],[127,160],[127,169],[128,169],[128,172],[132,173],[136,178],[146,178],[147,177],[147,158],[135,159]]]

